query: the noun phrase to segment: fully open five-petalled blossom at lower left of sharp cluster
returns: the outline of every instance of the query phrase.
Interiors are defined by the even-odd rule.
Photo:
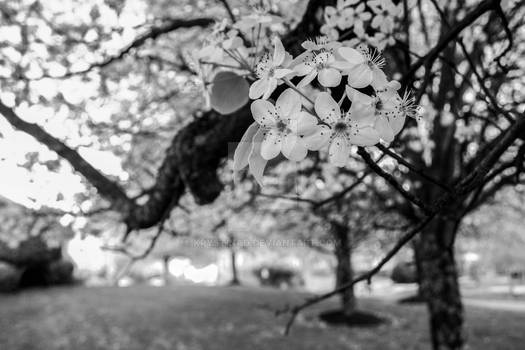
[[[261,156],[273,159],[283,155],[294,161],[306,157],[308,148],[305,135],[312,135],[320,127],[317,119],[301,111],[301,97],[292,89],[286,89],[277,99],[275,106],[267,100],[256,100],[251,105],[255,121],[263,128]]]

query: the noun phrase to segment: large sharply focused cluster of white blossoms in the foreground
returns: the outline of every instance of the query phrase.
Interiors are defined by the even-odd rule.
[[[282,153],[294,161],[306,157],[308,150],[328,149],[329,161],[347,164],[352,145],[372,146],[380,140],[390,143],[404,125],[405,117],[416,117],[417,109],[408,95],[398,94],[400,84],[389,81],[381,70],[384,60],[368,48],[351,48],[325,38],[303,43],[305,52],[295,59],[274,39],[271,56],[257,65],[257,80],[250,87],[253,118],[263,135],[261,156],[272,159]],[[302,77],[297,86],[292,77]],[[339,86],[346,76],[345,94],[335,101],[329,88]],[[302,88],[315,80],[322,87],[309,102]],[[287,83],[274,103],[268,97]],[[372,87],[368,95],[359,89]],[[348,99],[351,106],[341,108]],[[313,105],[313,109],[311,109]]]

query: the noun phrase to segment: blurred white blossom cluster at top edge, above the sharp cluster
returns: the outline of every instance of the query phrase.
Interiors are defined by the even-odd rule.
[[[327,6],[324,10],[325,24],[321,33],[331,40],[341,40],[339,31],[352,31],[355,37],[349,46],[359,44],[373,45],[380,50],[393,45],[394,25],[403,13],[403,2],[395,5],[392,0],[337,0],[337,5]],[[368,35],[368,26],[374,29],[374,35]]]

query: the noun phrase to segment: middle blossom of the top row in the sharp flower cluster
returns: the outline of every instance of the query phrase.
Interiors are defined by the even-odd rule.
[[[324,87],[334,87],[341,82],[341,72],[332,53],[328,51],[308,52],[302,57],[302,62],[294,67],[294,71],[304,78],[297,84],[304,87],[310,84],[315,77]]]

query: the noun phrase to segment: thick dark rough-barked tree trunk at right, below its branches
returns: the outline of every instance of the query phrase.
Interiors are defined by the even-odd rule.
[[[430,313],[434,350],[462,349],[464,344],[463,305],[454,259],[457,228],[458,222],[438,217],[416,241],[420,290]]]

